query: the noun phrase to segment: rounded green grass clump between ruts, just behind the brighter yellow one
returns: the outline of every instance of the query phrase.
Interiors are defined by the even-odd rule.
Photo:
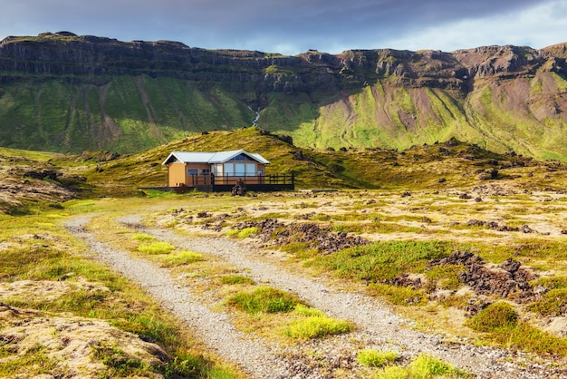
[[[252,292],[239,292],[231,296],[228,304],[247,313],[290,312],[299,304],[299,299],[272,287],[257,287]]]

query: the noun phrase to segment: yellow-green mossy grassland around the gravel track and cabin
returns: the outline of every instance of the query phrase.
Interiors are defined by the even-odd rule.
[[[4,172],[12,175],[5,183],[12,180],[24,189],[20,183],[27,180],[35,194],[0,215],[0,376],[245,377],[138,286],[94,260],[63,228],[65,220],[85,214],[93,215],[88,228],[97,238],[186,277],[204,304],[230,315],[251,337],[293,345],[348,335],[356,326],[256,283],[216,257],[175,248],[117,219],[138,214],[149,225],[188,237],[262,245],[275,251],[272,263],[380,298],[420,330],[565,365],[567,183],[562,164],[456,141],[408,151],[304,150],[303,160],[297,160],[298,149],[275,136],[258,140],[254,128],[235,133],[228,139],[224,131],[194,135],[111,159],[95,153],[79,158],[0,151]],[[164,180],[164,169],[154,163],[168,151],[232,149],[235,139],[246,150],[270,157],[271,170],[296,172],[298,191],[231,197],[136,189]],[[57,180],[21,177],[32,169],[61,175]],[[72,192],[75,199],[53,195],[53,189],[65,186],[80,190]],[[310,190],[322,188],[326,191]],[[11,203],[6,199],[6,204]],[[490,286],[480,286],[473,274]],[[498,281],[503,276],[507,281]],[[46,324],[37,330],[25,319]],[[91,364],[74,366],[41,330],[50,331],[58,344],[64,338],[81,341],[88,335],[82,329],[85,320],[96,323],[98,335],[83,341],[84,359]],[[66,334],[71,329],[77,332]],[[359,374],[418,375],[419,364],[442,367],[439,372],[446,375],[463,374],[429,362],[428,356],[411,364],[392,356],[361,348]]]

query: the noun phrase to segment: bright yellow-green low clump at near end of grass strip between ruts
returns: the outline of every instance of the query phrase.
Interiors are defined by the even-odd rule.
[[[311,339],[325,335],[340,335],[352,330],[348,321],[335,320],[327,316],[311,316],[290,323],[284,334],[292,338]]]

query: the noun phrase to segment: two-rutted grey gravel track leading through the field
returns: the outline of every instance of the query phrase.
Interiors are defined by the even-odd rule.
[[[144,233],[160,240],[196,252],[214,254],[227,263],[245,270],[258,282],[268,283],[293,292],[311,306],[327,315],[347,319],[356,324],[356,331],[347,336],[309,341],[292,347],[268,343],[261,338],[245,335],[230,324],[224,314],[212,312],[191,296],[187,287],[179,286],[165,268],[147,261],[131,258],[127,252],[111,248],[97,240],[83,227],[90,217],[72,219],[66,226],[83,238],[99,258],[122,275],[138,282],[152,296],[180,319],[196,329],[203,340],[226,360],[240,364],[252,377],[259,378],[321,378],[317,364],[305,359],[308,351],[322,355],[319,364],[343,366],[356,365],[354,357],[360,343],[379,349],[399,351],[407,359],[424,352],[437,355],[444,361],[476,374],[478,377],[537,378],[552,373],[539,364],[518,362],[518,355],[501,349],[444,342],[439,335],[427,335],[410,328],[408,320],[393,314],[387,306],[369,296],[342,292],[322,282],[322,279],[306,278],[286,272],[258,259],[254,249],[226,238],[182,238],[171,230],[143,228]],[[120,219],[128,226],[139,226],[136,216]],[[140,228],[140,226],[139,226]]]

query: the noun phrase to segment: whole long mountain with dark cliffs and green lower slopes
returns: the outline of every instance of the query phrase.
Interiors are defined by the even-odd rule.
[[[567,44],[297,56],[68,32],[0,43],[0,145],[144,151],[257,126],[299,147],[447,141],[567,161]]]

